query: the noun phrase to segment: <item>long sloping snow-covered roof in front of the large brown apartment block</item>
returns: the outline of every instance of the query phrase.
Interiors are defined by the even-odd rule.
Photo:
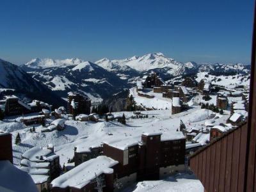
[[[81,189],[95,179],[95,173],[97,176],[102,173],[113,173],[112,167],[116,164],[118,164],[118,161],[110,157],[99,156],[79,164],[72,170],[60,175],[60,177],[52,180],[51,184],[53,188],[74,187]]]

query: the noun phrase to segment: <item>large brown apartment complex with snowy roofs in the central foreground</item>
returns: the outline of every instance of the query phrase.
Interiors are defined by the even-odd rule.
[[[143,133],[138,140],[112,141],[88,150],[76,147],[76,167],[52,180],[52,191],[93,191],[99,184],[103,191],[114,191],[136,180],[156,180],[184,170],[182,132],[172,137]]]

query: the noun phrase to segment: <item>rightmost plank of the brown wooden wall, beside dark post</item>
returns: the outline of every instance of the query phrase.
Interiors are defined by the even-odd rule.
[[[239,173],[237,181],[237,191],[244,190],[244,173],[245,173],[245,157],[246,157],[246,138],[247,138],[247,125],[241,127],[241,140],[240,140],[240,159],[239,159]]]

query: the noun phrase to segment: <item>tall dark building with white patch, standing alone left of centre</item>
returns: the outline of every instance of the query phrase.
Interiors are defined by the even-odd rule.
[[[77,92],[68,92],[68,113],[72,115],[90,114],[91,99]]]

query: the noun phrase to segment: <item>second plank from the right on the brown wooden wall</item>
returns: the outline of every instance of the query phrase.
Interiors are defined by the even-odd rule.
[[[232,152],[232,171],[231,171],[231,189],[237,191],[238,169],[239,169],[239,154],[240,154],[240,136],[241,129],[234,131],[233,152]]]

